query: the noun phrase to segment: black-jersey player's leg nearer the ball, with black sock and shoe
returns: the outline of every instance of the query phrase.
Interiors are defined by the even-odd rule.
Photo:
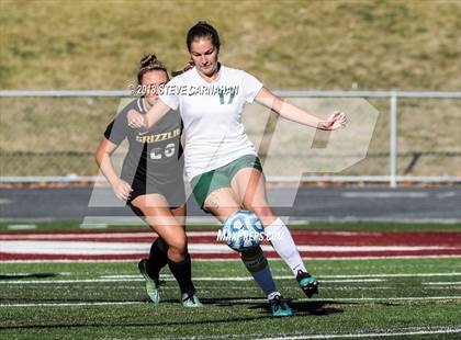
[[[145,220],[168,245],[168,267],[178,281],[181,302],[187,307],[200,307],[192,283],[191,260],[187,247],[184,225],[178,222],[168,207],[168,202],[160,194],[148,194],[136,197],[132,204],[145,215]],[[158,291],[158,287],[157,287]]]

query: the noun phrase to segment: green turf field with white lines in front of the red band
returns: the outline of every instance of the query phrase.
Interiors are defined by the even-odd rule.
[[[193,263],[204,303],[193,310],[179,304],[178,287],[168,270],[164,272],[165,301],[154,305],[145,302],[136,262],[2,263],[0,339],[460,336],[458,258],[316,260],[308,264],[321,282],[321,295],[311,301],[304,298],[289,270],[271,261],[277,283],[295,310],[294,317],[273,319],[238,261]],[[42,277],[20,279],[25,273],[41,273]],[[5,279],[7,274],[11,276]]]

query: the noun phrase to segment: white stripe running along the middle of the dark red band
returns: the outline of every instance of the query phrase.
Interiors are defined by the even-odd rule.
[[[7,253],[36,254],[124,254],[148,252],[150,242],[91,242],[91,241],[1,241],[0,251]],[[190,253],[233,253],[224,243],[189,243]],[[274,252],[271,246],[261,246],[263,251]],[[297,246],[299,251],[311,252],[382,252],[461,250],[461,246]]]

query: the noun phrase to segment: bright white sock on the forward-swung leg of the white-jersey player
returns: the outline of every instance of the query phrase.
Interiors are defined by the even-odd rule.
[[[283,220],[278,217],[270,226],[266,227],[265,234],[273,249],[276,249],[277,253],[290,267],[294,275],[297,274],[299,270],[307,272],[296,249],[296,245],[291,237],[291,233]]]

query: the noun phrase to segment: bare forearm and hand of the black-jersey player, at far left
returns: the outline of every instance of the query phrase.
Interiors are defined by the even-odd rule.
[[[101,143],[95,151],[95,161],[102,173],[111,184],[112,190],[119,200],[126,201],[133,191],[132,186],[122,180],[115,172],[112,165],[111,155],[116,150],[117,145],[102,137]]]

